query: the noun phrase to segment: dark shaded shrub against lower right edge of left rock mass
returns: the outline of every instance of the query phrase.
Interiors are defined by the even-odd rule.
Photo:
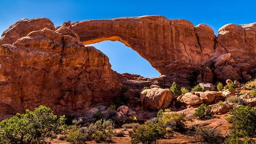
[[[122,87],[118,92],[117,92],[117,97],[114,99],[114,104],[116,107],[120,107],[122,105],[125,105],[129,101],[129,97],[125,95],[127,93],[129,88],[127,87]]]

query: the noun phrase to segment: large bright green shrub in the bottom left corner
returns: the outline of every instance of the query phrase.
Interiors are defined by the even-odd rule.
[[[17,113],[0,123],[0,140],[4,143],[45,143],[65,129],[65,116],[57,118],[53,111],[40,105],[34,111]]]

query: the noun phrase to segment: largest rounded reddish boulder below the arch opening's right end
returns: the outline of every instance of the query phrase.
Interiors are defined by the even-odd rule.
[[[152,88],[141,92],[140,102],[143,108],[163,109],[170,106],[174,98],[169,89]]]

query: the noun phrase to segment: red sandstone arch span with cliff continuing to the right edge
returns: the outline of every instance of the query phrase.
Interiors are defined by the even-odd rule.
[[[87,20],[72,24],[83,44],[120,41],[137,51],[161,74],[191,73],[212,56],[231,53],[239,63],[255,67],[256,23],[227,24],[216,38],[206,24],[194,27],[163,16]]]

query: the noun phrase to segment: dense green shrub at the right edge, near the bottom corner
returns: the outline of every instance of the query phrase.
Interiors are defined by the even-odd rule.
[[[256,130],[256,109],[249,106],[235,107],[230,111],[227,119],[232,124],[230,127],[232,137],[253,136]]]

